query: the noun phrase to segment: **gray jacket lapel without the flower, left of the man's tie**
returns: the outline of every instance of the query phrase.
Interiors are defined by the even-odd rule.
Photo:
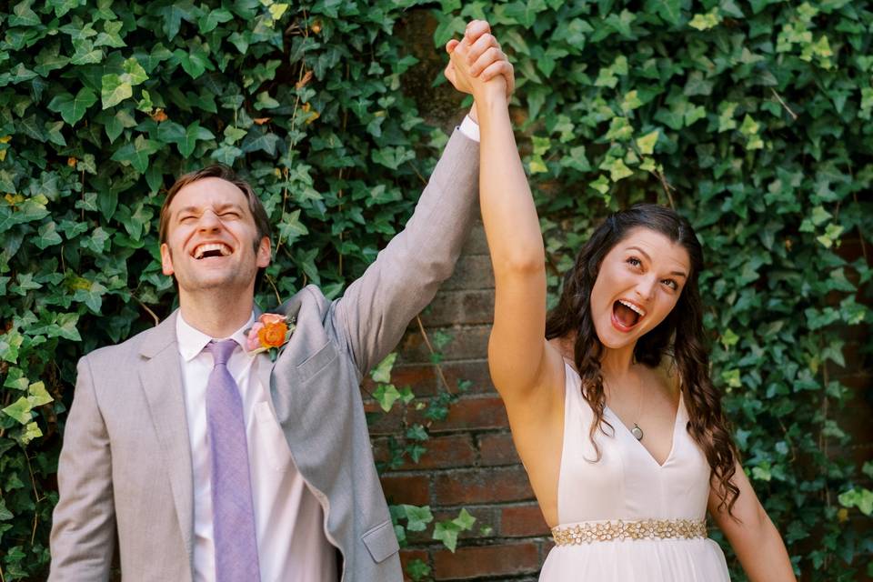
[[[182,365],[176,342],[176,316],[166,318],[146,338],[140,354],[146,357],[139,376],[146,391],[149,413],[166,457],[173,501],[188,557],[194,532],[194,469],[185,410]]]

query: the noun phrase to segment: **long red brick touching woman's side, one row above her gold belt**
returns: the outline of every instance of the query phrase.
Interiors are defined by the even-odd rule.
[[[439,506],[527,501],[534,493],[522,467],[461,469],[437,474],[434,501]]]

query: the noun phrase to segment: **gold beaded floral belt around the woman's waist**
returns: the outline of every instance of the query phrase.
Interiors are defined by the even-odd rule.
[[[707,537],[707,522],[703,519],[587,521],[572,526],[552,527],[552,537],[557,546],[624,539],[691,539]]]

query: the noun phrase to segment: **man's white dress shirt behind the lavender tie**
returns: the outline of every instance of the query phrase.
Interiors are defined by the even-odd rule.
[[[253,321],[254,317],[230,336],[240,347],[230,356],[227,369],[243,398],[261,582],[336,580],[336,551],[325,535],[324,511],[297,472],[270,400],[266,385],[270,357],[249,356],[242,347],[244,331]],[[213,338],[188,325],[181,313],[176,336],[194,466],[194,580],[213,582],[216,549],[206,434],[206,382],[213,358],[203,349]]]

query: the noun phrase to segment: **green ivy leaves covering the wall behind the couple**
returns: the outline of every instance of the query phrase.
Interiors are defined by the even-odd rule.
[[[418,15],[432,35],[410,33]],[[834,451],[856,406],[838,370],[871,358],[847,349],[873,316],[870,3],[24,0],[0,8],[4,580],[44,576],[76,359],[174,308],[163,189],[234,166],[276,226],[261,304],[309,282],[340,294],[447,139],[406,84],[414,55],[473,17],[516,65],[553,290],[608,209],[688,216],[713,377],[753,484],[808,579],[868,567],[873,537],[846,524],[873,513],[873,464]],[[395,513],[401,534],[427,525]]]

